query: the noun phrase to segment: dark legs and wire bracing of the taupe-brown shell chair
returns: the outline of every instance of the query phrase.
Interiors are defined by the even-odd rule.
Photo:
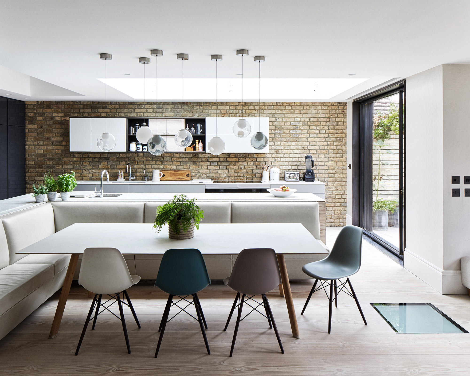
[[[246,317],[250,313],[252,313],[253,311],[256,311],[259,314],[261,314],[262,316],[266,317],[267,322],[269,324],[269,329],[274,328],[274,333],[276,334],[277,342],[279,343],[279,347],[281,348],[281,352],[284,353],[284,348],[282,347],[281,337],[279,337],[279,332],[277,331],[276,322],[274,321],[274,316],[273,316],[273,313],[271,311],[271,307],[269,305],[269,302],[266,298],[266,294],[261,295],[261,298],[263,299],[263,301],[261,303],[256,301],[255,299],[253,299],[253,297],[254,297],[254,295],[248,296],[248,295],[243,294],[242,299],[240,301],[240,293],[238,292],[236,294],[234,304],[232,305],[232,309],[230,310],[230,313],[229,313],[228,319],[227,319],[227,323],[225,324],[225,328],[224,328],[224,331],[226,331],[227,327],[228,327],[228,324],[230,323],[230,319],[232,318],[232,314],[235,311],[235,308],[238,308],[238,315],[237,315],[237,319],[236,319],[236,323],[235,323],[234,337],[232,339],[232,347],[230,349],[230,356],[232,356],[233,352],[234,352],[235,341],[236,341],[236,336],[237,336],[237,333],[238,333],[238,327],[240,325],[240,321],[243,321],[244,319],[246,319]],[[253,306],[253,305],[255,305],[253,303],[252,303],[253,305],[248,303],[251,300],[256,304],[256,306]],[[249,313],[247,313],[246,315],[244,315],[243,318],[241,318],[242,317],[243,304],[246,304],[246,305],[250,306],[251,311]],[[266,314],[258,311],[258,307],[260,305],[264,307]]]

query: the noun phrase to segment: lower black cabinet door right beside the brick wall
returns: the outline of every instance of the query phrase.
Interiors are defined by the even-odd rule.
[[[8,125],[8,198],[26,194],[24,127]]]

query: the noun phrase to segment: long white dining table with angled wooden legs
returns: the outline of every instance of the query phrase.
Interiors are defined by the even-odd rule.
[[[165,225],[157,233],[152,223],[75,223],[16,253],[70,254],[71,259],[49,338],[57,335],[69,295],[78,256],[86,248],[117,248],[122,254],[164,254],[173,248],[196,248],[203,255],[237,255],[246,248],[272,248],[281,271],[281,295],[285,296],[292,335],[299,338],[285,254],[328,254],[301,223],[206,223],[191,239],[168,237]]]

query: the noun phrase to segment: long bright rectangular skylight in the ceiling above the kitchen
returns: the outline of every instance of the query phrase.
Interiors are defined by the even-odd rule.
[[[105,82],[104,78],[97,78]],[[368,78],[257,78],[243,79],[243,102],[296,102],[329,99],[359,85]],[[107,84],[134,99],[144,98],[143,78],[108,78]],[[215,78],[185,78],[184,96],[181,78],[158,78],[159,101],[213,101]],[[242,99],[241,78],[219,78],[217,83],[219,101],[239,102]],[[156,98],[156,79],[145,79],[145,99]]]

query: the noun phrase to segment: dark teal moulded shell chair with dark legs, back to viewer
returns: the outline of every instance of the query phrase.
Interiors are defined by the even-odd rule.
[[[160,337],[158,338],[157,350],[155,351],[156,358],[158,355],[158,350],[160,350],[160,345],[162,344],[162,338],[167,322],[171,321],[178,313],[182,311],[188,313],[186,308],[188,308],[189,305],[194,305],[196,308],[197,319],[191,313],[188,313],[188,315],[199,322],[207,353],[211,353],[204,330],[204,327],[207,329],[207,323],[204,318],[201,303],[197,297],[197,292],[203,290],[205,287],[207,287],[207,285],[210,284],[211,280],[207,274],[204,258],[199,250],[175,249],[168,250],[164,253],[160,268],[158,269],[155,286],[170,295],[163,311],[160,328],[158,329],[160,332]],[[192,300],[186,299],[189,295],[193,297]],[[178,297],[180,299],[176,303],[173,303],[173,297]],[[188,304],[180,307],[178,305],[179,303],[181,305],[186,303]],[[176,305],[180,311],[176,313],[170,320],[168,320],[170,308],[173,305]]]

